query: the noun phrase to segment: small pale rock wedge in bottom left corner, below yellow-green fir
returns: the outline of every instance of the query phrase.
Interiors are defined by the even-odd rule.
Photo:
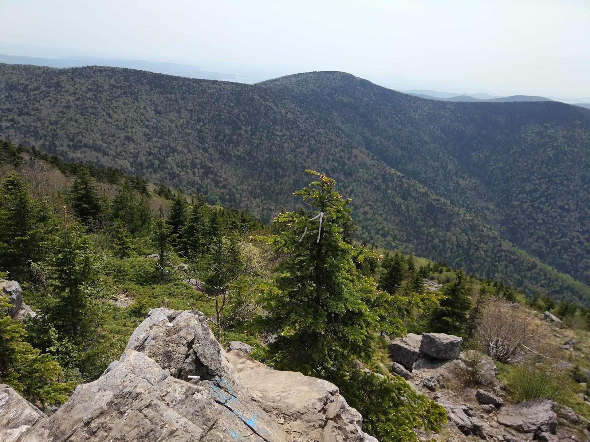
[[[17,442],[44,417],[45,414],[16,391],[0,384],[0,441]]]

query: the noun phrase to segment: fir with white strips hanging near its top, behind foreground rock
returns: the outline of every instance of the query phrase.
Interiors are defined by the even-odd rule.
[[[352,366],[353,358],[370,356],[375,332],[405,332],[403,320],[416,299],[379,292],[372,278],[356,271],[353,248],[341,236],[350,221],[350,199],[335,192],[333,179],[306,173],[319,181],[294,194],[317,207],[321,229],[320,220],[304,212],[281,213],[274,220],[278,235],[252,238],[272,242],[276,253],[289,256],[261,299],[267,312],[261,323],[277,335],[267,362],[335,382],[362,410],[363,430],[382,442],[415,441],[414,428],[440,430],[446,421],[440,405],[415,394],[401,377],[381,380]]]

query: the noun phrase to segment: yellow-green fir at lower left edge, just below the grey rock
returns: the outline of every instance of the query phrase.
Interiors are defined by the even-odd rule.
[[[0,296],[0,384],[14,388],[33,403],[63,404],[72,385],[58,382],[61,367],[53,356],[24,341],[25,326],[4,312],[11,306],[8,296]]]

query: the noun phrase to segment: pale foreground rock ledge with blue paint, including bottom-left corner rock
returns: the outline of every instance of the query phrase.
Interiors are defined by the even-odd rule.
[[[378,442],[335,385],[228,354],[201,312],[165,308],[50,417],[8,387],[0,416],[2,442]]]

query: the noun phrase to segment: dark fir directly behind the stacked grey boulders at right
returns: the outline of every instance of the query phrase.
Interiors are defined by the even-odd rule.
[[[467,289],[467,278],[463,270],[455,273],[455,282],[449,282],[441,290],[440,305],[435,306],[428,315],[428,331],[464,336],[467,312],[471,308],[471,298]]]

